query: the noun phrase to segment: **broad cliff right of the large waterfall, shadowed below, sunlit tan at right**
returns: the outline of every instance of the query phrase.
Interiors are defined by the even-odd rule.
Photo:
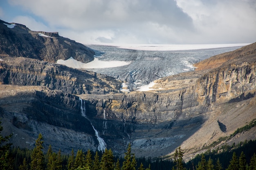
[[[187,153],[195,153],[256,118],[252,111],[256,109],[256,53],[252,50],[256,44],[249,48],[254,53],[247,53],[247,49],[240,49],[247,55],[239,55],[218,68],[158,79],[150,92],[80,97],[86,100],[88,115],[109,144],[123,138],[132,142],[139,156],[159,155],[194,137],[198,148],[188,141],[183,147],[190,150]],[[227,131],[223,132],[218,122],[225,122]],[[213,128],[203,133],[206,125]],[[118,136],[117,132],[122,133]]]

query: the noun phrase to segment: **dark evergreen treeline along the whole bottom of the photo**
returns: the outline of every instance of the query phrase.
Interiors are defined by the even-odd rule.
[[[151,161],[150,157],[136,158],[130,144],[124,158],[114,157],[111,149],[103,153],[91,150],[75,153],[72,149],[69,155],[64,155],[61,150],[53,152],[51,145],[43,153],[41,134],[33,150],[11,148],[7,143],[10,137],[0,134],[0,170],[256,170],[256,141],[222,146],[184,163],[184,151],[180,147],[171,160]]]

